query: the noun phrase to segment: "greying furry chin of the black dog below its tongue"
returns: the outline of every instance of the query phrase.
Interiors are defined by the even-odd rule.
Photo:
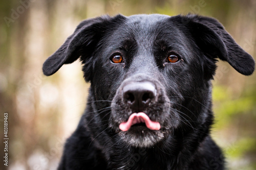
[[[148,130],[146,127],[131,127],[129,131],[119,132],[121,139],[135,148],[151,148],[163,140],[166,133],[157,130]]]

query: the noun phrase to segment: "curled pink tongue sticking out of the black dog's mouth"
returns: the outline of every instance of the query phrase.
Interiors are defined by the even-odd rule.
[[[127,131],[131,126],[139,123],[145,123],[146,127],[151,130],[159,130],[161,128],[159,122],[153,122],[145,113],[140,112],[131,114],[127,122],[119,125],[119,129],[121,131]]]

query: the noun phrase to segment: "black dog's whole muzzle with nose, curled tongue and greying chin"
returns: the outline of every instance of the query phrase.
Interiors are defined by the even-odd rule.
[[[135,148],[154,147],[164,140],[172,133],[172,122],[177,117],[170,112],[163,85],[147,75],[124,80],[117,89],[111,110],[110,127],[123,142]]]

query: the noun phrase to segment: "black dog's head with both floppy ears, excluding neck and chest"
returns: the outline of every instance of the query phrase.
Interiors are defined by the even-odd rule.
[[[254,70],[252,57],[217,20],[196,15],[84,20],[46,60],[44,74],[79,57],[91,82],[90,127],[142,148],[206,124],[208,131],[217,58],[244,75]]]

